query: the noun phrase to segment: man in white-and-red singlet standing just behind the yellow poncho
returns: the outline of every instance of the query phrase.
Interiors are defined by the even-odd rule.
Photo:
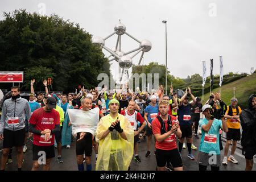
[[[138,155],[138,141],[139,141],[139,133],[144,129],[146,126],[146,121],[142,118],[141,114],[138,111],[135,111],[135,102],[130,101],[128,105],[127,110],[121,110],[121,114],[124,115],[128,121],[131,123],[131,126],[133,127],[134,130],[134,153],[135,153],[135,158],[134,160],[136,162],[141,162],[141,158],[139,158]],[[141,127],[138,127],[138,122],[141,123]]]

